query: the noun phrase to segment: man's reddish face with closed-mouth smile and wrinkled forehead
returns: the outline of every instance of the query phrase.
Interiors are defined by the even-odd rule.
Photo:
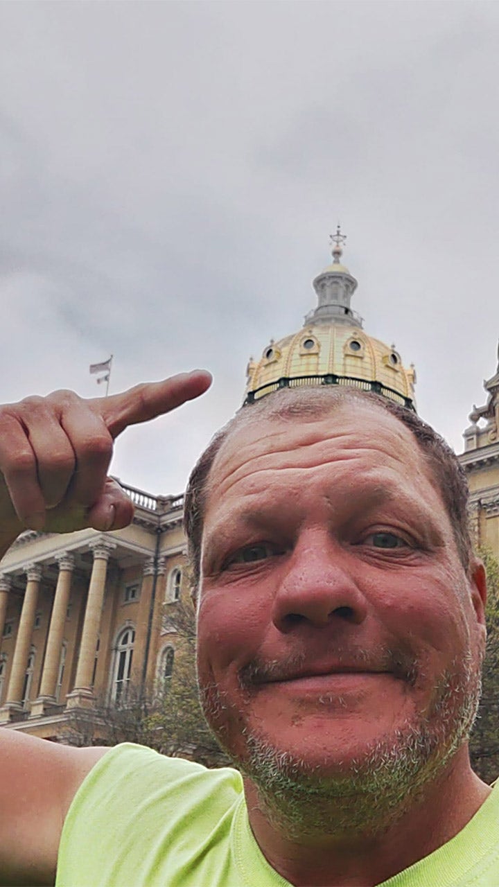
[[[437,484],[398,420],[355,404],[229,436],[205,512],[198,669],[242,765],[259,747],[334,776],[408,731],[454,728],[483,635]]]

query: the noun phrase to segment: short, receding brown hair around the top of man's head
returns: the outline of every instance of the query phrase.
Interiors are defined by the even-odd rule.
[[[448,443],[416,412],[388,400],[372,391],[350,387],[317,386],[315,388],[281,389],[248,404],[236,412],[212,438],[202,453],[189,478],[186,489],[184,526],[193,571],[194,590],[201,577],[201,546],[204,511],[210,470],[223,443],[249,422],[260,419],[299,421],[304,416],[323,415],[344,404],[369,404],[400,420],[416,438],[416,443],[426,459],[437,483],[454,531],[455,545],[463,568],[468,573],[471,561],[471,536],[468,522],[468,483],[463,467]]]

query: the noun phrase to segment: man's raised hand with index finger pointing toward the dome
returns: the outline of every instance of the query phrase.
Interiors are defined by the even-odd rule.
[[[201,395],[210,381],[195,370],[109,397],[55,391],[0,407],[0,540],[27,529],[127,526],[131,500],[107,477],[115,438]]]

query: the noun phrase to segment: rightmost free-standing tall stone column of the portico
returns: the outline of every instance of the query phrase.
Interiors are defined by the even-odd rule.
[[[94,542],[89,546],[93,551],[93,566],[89,593],[83,620],[82,640],[76,668],[75,687],[67,695],[67,708],[79,708],[91,703],[91,676],[95,660],[95,649],[99,637],[100,616],[106,589],[107,561],[115,549],[115,542]]]

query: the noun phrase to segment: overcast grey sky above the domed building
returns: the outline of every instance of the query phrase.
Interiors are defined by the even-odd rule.
[[[0,401],[202,366],[113,470],[183,490],[250,355],[315,305],[340,220],[352,308],[457,451],[495,373],[499,4],[0,4]]]

